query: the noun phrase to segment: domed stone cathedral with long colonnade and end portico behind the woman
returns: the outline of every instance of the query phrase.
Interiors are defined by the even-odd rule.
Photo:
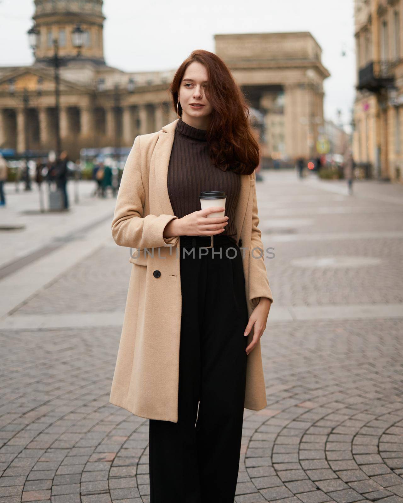
[[[39,29],[35,62],[0,67],[0,148],[55,149],[54,40],[60,67],[61,147],[130,147],[138,134],[158,131],[177,116],[167,91],[175,69],[125,72],[108,66],[103,52],[102,0],[35,0]],[[77,57],[72,30],[85,32]],[[323,126],[321,48],[308,32],[215,35],[250,105],[266,119],[265,157],[316,155]]]

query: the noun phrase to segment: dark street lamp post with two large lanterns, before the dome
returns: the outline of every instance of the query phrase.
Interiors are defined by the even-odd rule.
[[[80,24],[77,24],[72,31],[72,44],[73,47],[77,49],[76,58],[81,55],[81,49],[84,44],[84,30],[81,28]],[[28,30],[29,45],[33,50],[34,54],[36,48],[38,47],[40,37],[39,29],[34,25],[30,30]],[[60,66],[65,64],[72,58],[59,56],[59,44],[56,39],[53,39],[53,57],[49,59],[54,67],[54,95],[55,95],[55,136],[56,136],[56,156],[58,157],[61,152],[61,139],[60,139]]]

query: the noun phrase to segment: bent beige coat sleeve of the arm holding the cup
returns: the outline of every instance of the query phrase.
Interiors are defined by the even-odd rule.
[[[137,136],[124,165],[112,221],[112,236],[120,246],[158,248],[174,246],[179,236],[164,238],[165,226],[174,215],[143,217],[145,191],[142,179],[142,153]]]

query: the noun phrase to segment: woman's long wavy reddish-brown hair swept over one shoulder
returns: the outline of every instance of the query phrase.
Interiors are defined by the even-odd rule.
[[[251,175],[259,164],[260,147],[251,131],[248,104],[228,66],[213,52],[192,51],[176,70],[169,87],[175,113],[180,83],[193,61],[203,64],[208,74],[206,98],[213,107],[207,130],[211,162],[223,171]],[[180,102],[178,112],[182,113]]]

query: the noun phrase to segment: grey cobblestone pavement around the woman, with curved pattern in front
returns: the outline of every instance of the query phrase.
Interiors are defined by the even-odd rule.
[[[379,314],[402,303],[403,187],[356,183],[349,197],[341,184],[264,176],[273,314],[329,314],[271,312],[261,339],[268,405],[244,410],[235,501],[403,502],[403,310]],[[148,420],[108,401],[120,320],[97,326],[124,305],[128,257],[104,242],[17,306],[14,329],[0,326],[0,503],[150,500]],[[370,318],[348,310],[364,304]],[[94,326],[18,325],[83,313]]]

